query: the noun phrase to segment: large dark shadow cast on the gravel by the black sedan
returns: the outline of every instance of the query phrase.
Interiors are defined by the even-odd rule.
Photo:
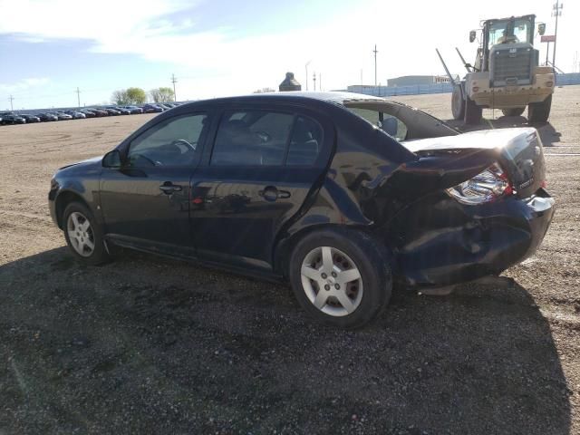
[[[152,256],[0,266],[0,433],[567,434],[526,289],[400,292],[371,327],[314,324],[288,288]]]

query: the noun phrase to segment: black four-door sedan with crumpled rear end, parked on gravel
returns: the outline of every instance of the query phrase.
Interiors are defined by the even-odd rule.
[[[532,255],[554,213],[533,128],[461,134],[398,102],[299,93],[191,102],[60,169],[49,205],[82,263],[113,246],[287,280],[357,327],[393,283],[435,289]]]

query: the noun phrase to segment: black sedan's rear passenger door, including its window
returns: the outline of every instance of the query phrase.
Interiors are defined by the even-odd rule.
[[[211,156],[192,179],[198,256],[271,269],[275,237],[324,173],[333,147],[314,116],[294,110],[225,111]]]

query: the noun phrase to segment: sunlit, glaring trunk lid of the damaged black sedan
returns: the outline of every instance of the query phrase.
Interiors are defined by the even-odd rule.
[[[420,160],[453,153],[459,155],[467,150],[491,152],[507,172],[519,198],[531,197],[545,185],[544,150],[534,128],[472,131],[457,136],[403,141],[401,144]]]

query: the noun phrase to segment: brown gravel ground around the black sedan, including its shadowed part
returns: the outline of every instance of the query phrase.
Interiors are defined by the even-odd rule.
[[[449,94],[398,98],[449,118]],[[125,252],[82,267],[50,220],[53,171],[151,115],[0,128],[0,434],[580,433],[580,86],[546,145],[556,218],[514,283],[399,289],[336,331],[286,285]],[[525,118],[493,121],[489,128]]]

